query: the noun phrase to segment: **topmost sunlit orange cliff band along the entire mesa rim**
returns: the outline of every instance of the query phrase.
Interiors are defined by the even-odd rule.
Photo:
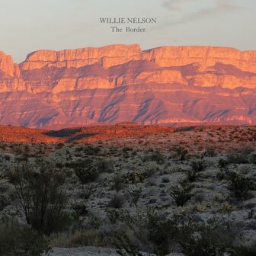
[[[158,66],[185,66],[199,63],[203,69],[220,62],[236,66],[247,72],[256,72],[256,51],[241,52],[232,48],[210,46],[162,46],[142,51],[137,44],[111,45],[100,48],[82,48],[77,50],[38,50],[30,53],[21,63],[24,70],[42,67],[79,68],[99,63],[105,68],[117,66],[134,60],[149,60]]]

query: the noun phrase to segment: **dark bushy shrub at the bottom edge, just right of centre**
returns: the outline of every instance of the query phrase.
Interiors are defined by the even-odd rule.
[[[120,215],[126,229],[114,235],[114,246],[120,255],[142,255],[139,251],[155,253],[159,256],[172,251],[174,236],[178,234],[176,219],[161,217],[152,208],[146,214],[129,213]]]

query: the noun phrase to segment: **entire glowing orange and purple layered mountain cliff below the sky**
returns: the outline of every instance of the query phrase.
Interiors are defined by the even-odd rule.
[[[256,123],[256,51],[139,45],[0,52],[0,123]]]

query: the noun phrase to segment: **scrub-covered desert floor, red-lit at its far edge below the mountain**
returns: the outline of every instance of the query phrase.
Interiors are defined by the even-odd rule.
[[[1,255],[256,255],[256,126],[1,126],[0,141]]]

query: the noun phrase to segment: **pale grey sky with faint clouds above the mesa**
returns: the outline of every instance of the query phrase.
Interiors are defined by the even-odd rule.
[[[117,34],[99,22],[105,17],[157,18],[158,24],[144,26],[144,34]],[[15,62],[34,50],[112,43],[139,43],[143,50],[163,45],[256,50],[255,24],[255,0],[0,0],[0,50]]]

